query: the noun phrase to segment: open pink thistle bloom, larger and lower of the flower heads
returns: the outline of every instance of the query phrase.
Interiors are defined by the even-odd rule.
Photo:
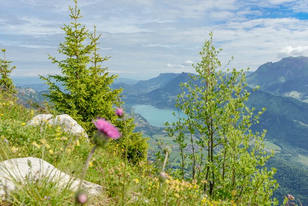
[[[106,137],[112,139],[117,139],[121,137],[119,130],[105,119],[98,118],[96,121],[93,120],[93,124],[95,125],[97,130],[103,133]]]

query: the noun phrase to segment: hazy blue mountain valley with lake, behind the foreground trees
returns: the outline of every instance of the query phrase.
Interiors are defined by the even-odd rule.
[[[259,119],[260,123],[252,125],[251,129],[252,132],[266,129],[266,150],[275,153],[266,165],[277,168],[275,178],[279,188],[274,196],[281,201],[283,195],[290,193],[300,198],[303,205],[308,205],[307,74],[307,57],[284,58],[277,63],[266,63],[255,72],[249,73],[246,88],[251,93],[246,106],[255,107],[256,113],[266,107]],[[171,114],[177,113],[174,99],[182,92],[179,84],[188,81],[189,75],[194,74],[162,73],[149,80],[136,82],[124,79],[112,85],[113,88],[123,88],[124,108],[135,118],[135,131],[149,138],[148,159],[154,161],[154,154],[159,150],[159,146],[172,147],[169,169],[180,168],[180,151],[173,138],[168,137],[163,123],[177,121],[177,117]],[[301,79],[296,81],[299,76]],[[253,92],[250,87],[254,85],[260,85],[260,89]],[[32,87],[31,83],[27,86]],[[37,85],[33,87],[44,88]],[[24,103],[29,100],[36,103],[44,100],[41,97],[43,91],[23,88],[18,90],[19,99]],[[193,137],[194,141],[197,139],[198,137]],[[189,145],[187,139],[185,143]],[[185,153],[190,154],[191,149],[187,146]],[[186,161],[189,162],[188,158]]]

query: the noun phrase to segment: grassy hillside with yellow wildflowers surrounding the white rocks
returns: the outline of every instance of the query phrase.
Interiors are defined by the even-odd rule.
[[[37,114],[17,104],[13,98],[0,98],[0,161],[29,156],[42,158],[73,178],[79,178],[93,145],[85,137],[72,136],[47,121],[37,126],[27,125]],[[124,161],[119,157],[122,155],[109,151],[98,148],[92,157],[85,180],[101,185],[103,190],[98,196],[89,196],[85,205],[121,204]],[[176,152],[171,155],[178,156]],[[156,171],[148,162],[127,164],[125,205],[232,205],[212,202],[196,182],[180,181],[172,176],[162,185],[161,202],[157,203]],[[75,205],[75,192],[68,187],[59,189],[58,183],[48,178],[25,180],[16,185],[15,190],[7,191],[0,205]]]

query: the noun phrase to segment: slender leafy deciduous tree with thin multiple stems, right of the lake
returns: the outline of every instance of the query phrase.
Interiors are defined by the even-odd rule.
[[[169,124],[167,131],[177,142],[189,140],[191,177],[214,200],[276,204],[271,199],[277,188],[276,169],[264,167],[273,155],[264,149],[266,131],[254,134],[249,129],[265,108],[254,115],[254,108],[245,106],[250,95],[245,72],[220,69],[220,51],[213,46],[211,33],[200,52],[201,62],[193,65],[197,75],[181,84],[183,92],[176,99],[186,117]]]

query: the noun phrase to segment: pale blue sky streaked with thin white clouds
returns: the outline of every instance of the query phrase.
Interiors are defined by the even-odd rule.
[[[0,0],[0,48],[12,77],[61,74],[48,54],[64,41],[72,0]],[[209,33],[222,66],[256,70],[289,56],[308,56],[308,0],[79,0],[80,23],[97,27],[102,64],[122,78],[194,72]],[[2,54],[0,58],[2,58]]]

